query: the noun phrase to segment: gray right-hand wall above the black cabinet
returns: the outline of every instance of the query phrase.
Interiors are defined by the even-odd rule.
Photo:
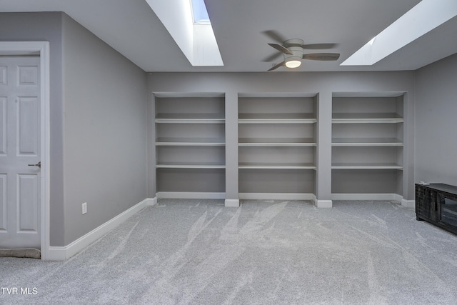
[[[457,54],[416,71],[415,181],[457,185]]]

